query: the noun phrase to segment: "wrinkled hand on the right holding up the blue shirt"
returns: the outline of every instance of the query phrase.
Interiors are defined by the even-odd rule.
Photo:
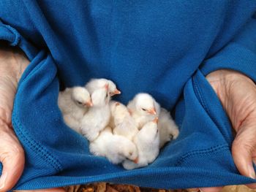
[[[233,160],[238,171],[255,179],[256,162],[256,85],[239,72],[222,69],[206,76],[217,93],[223,108],[236,131],[232,145]],[[247,185],[256,188],[256,184]],[[204,192],[217,192],[222,188],[201,188]]]

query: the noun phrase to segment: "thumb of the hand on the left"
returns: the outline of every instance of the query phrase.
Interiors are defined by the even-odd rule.
[[[25,157],[23,148],[12,131],[1,129],[0,161],[3,166],[0,177],[0,191],[9,191],[23,172]]]

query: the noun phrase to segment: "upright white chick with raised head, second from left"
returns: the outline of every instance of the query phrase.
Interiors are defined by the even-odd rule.
[[[90,142],[99,136],[99,131],[102,131],[110,120],[108,85],[94,91],[91,94],[91,101],[93,107],[89,108],[81,120],[82,134]]]

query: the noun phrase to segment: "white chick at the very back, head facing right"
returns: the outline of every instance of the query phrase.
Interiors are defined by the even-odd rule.
[[[119,91],[116,88],[116,84],[111,81],[111,80],[107,80],[107,79],[92,79],[89,82],[86,83],[86,89],[89,91],[89,93],[94,92],[95,90],[102,88],[103,86],[105,86],[106,84],[109,85],[109,94],[110,96],[114,96],[116,94],[121,94],[121,91]]]

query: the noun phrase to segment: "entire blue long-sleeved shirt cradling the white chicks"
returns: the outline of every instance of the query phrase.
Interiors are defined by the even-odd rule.
[[[233,163],[230,122],[205,75],[234,69],[256,81],[256,1],[0,1],[0,39],[31,64],[12,124],[26,150],[15,189],[108,181],[154,188],[256,183]],[[57,106],[59,81],[105,77],[127,103],[151,93],[181,134],[153,164],[126,171],[89,153]]]

